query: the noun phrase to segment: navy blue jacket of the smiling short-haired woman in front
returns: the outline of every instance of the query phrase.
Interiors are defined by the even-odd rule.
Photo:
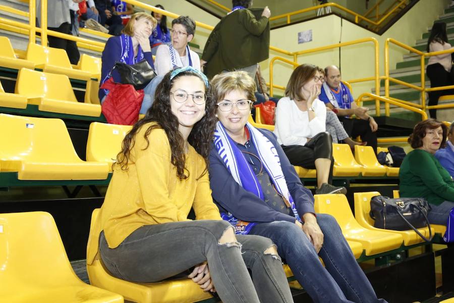
[[[276,147],[282,173],[286,178],[287,187],[295,201],[295,206],[300,217],[306,213],[315,214],[314,196],[311,191],[305,188],[301,183],[295,168],[290,164],[286,154],[283,152],[279,143],[277,143],[274,134],[265,129],[258,128],[258,130]],[[245,145],[238,143],[237,146],[240,150],[247,150],[250,153],[257,155],[257,149],[252,141],[248,141]],[[247,222],[295,222],[295,217],[272,209],[265,204],[264,200],[260,199],[252,192],[246,191],[238,184],[224,166],[224,162],[217,153],[213,142],[209,160],[210,187],[213,200],[220,212],[230,212],[236,218]],[[259,169],[259,166],[260,165],[257,163],[257,167],[253,166],[252,168],[254,170],[257,168]]]

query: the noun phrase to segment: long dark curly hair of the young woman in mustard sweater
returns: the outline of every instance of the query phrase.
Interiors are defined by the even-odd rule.
[[[171,72],[168,72],[161,83],[158,84],[156,88],[155,100],[153,105],[148,109],[145,117],[139,120],[134,124],[131,131],[126,135],[122,143],[122,150],[117,155],[117,164],[121,166],[122,170],[128,170],[128,161],[131,155],[131,149],[134,147],[134,138],[139,132],[140,128],[147,123],[156,122],[148,127],[144,134],[144,138],[147,141],[148,148],[150,142],[148,140],[148,135],[153,129],[163,129],[167,135],[168,142],[171,146],[172,158],[171,163],[177,168],[177,176],[180,180],[186,179],[189,177],[189,173],[185,173],[185,148],[184,140],[180,131],[178,130],[179,122],[178,118],[172,113],[170,96],[169,93],[175,81],[183,76],[200,76],[192,71],[181,72],[176,75],[172,80]],[[203,81],[200,78],[200,81]],[[209,167],[208,156],[210,153],[210,142],[214,133],[214,125],[216,123],[216,118],[214,112],[216,110],[216,104],[214,99],[211,96],[211,86],[206,87],[205,94],[207,96],[205,103],[205,115],[194,124],[194,127],[191,130],[191,133],[188,137],[188,142],[191,144],[194,149],[199,153],[205,160],[205,170],[198,177],[202,177]],[[187,170],[186,170],[187,171]]]

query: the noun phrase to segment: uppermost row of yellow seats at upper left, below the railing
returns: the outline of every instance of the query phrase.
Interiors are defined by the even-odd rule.
[[[101,59],[83,54],[75,68],[64,49],[29,43],[25,59],[18,59],[8,37],[0,36],[0,66],[12,69],[41,69],[69,78],[88,81],[101,76]]]

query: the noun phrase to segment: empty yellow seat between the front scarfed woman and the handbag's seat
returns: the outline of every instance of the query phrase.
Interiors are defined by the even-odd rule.
[[[376,231],[362,227],[353,217],[347,197],[343,194],[316,194],[315,212],[332,215],[345,238],[360,242],[366,256],[372,256],[401,247],[403,237],[388,231]]]

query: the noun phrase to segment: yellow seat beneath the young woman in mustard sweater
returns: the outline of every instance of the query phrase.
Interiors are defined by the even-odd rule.
[[[99,209],[93,211],[90,233],[93,230],[98,213]],[[99,235],[90,234],[90,237],[98,238]],[[89,248],[87,247],[87,249]],[[134,283],[115,278],[104,267],[99,254],[96,255],[91,265],[87,264],[87,273],[91,285],[115,291],[123,295],[126,300],[138,303],[184,303],[212,297],[211,294],[204,292],[199,285],[186,277],[155,283]]]

